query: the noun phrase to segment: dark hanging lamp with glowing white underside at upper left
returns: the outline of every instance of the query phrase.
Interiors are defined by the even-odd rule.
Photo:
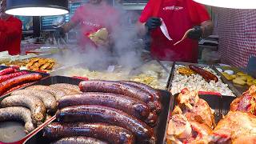
[[[49,16],[69,13],[68,0],[7,0],[6,14]]]

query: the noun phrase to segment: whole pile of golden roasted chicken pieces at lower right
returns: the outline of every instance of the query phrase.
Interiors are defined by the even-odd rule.
[[[167,130],[167,143],[256,144],[256,86],[230,104],[230,112],[214,127],[214,115],[196,92],[182,90]]]

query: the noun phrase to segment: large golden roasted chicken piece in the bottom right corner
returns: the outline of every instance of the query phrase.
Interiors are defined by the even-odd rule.
[[[242,111],[230,111],[215,127],[211,134],[215,143],[247,143],[256,137],[256,116]]]

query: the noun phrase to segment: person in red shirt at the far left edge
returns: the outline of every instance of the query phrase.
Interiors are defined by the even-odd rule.
[[[22,22],[5,13],[6,0],[0,2],[0,51],[8,50],[11,55],[20,54]]]

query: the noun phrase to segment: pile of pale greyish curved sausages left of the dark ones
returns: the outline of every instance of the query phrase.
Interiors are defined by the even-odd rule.
[[[29,133],[56,113],[59,98],[80,93],[78,86],[64,83],[16,90],[0,102],[0,122],[23,121]]]

